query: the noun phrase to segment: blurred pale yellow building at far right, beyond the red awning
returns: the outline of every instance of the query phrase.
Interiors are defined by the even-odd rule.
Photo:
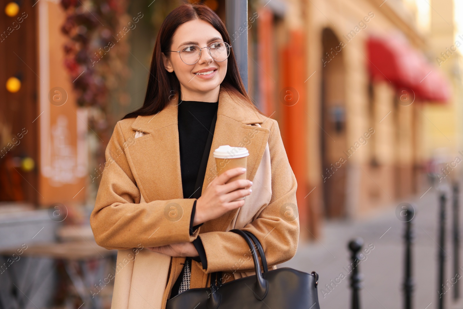
[[[440,163],[435,170],[442,182],[454,181],[461,176],[457,158],[463,158],[463,33],[458,32],[454,16],[456,2],[452,0],[432,1],[437,10],[431,11],[428,28],[428,56],[444,72],[452,86],[452,97],[446,106],[427,105],[423,114],[429,119],[424,123],[424,134],[421,152],[426,158]],[[438,130],[436,129],[438,128]],[[457,163],[457,162],[458,163]],[[449,165],[447,165],[449,164]],[[449,168],[450,166],[450,168]],[[453,166],[453,167],[452,167]],[[442,171],[444,168],[444,171]]]

